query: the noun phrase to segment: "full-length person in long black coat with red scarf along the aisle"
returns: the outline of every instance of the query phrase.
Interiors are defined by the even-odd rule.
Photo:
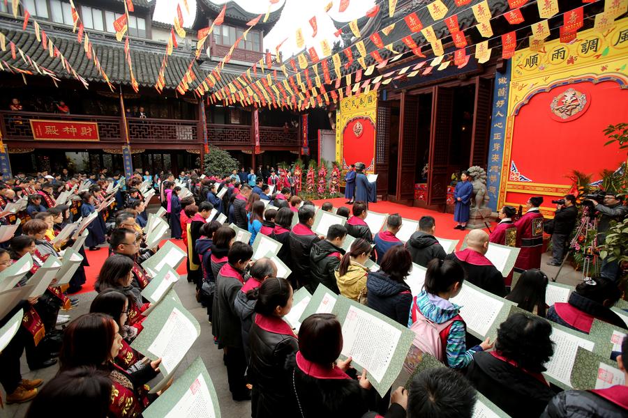
[[[251,245],[234,242],[227,254],[228,262],[220,268],[216,277],[214,309],[212,311],[211,332],[218,341],[218,348],[225,349],[225,365],[229,390],[234,401],[251,399],[251,392],[246,387],[244,373],[246,359],[242,342],[242,325],[235,311],[234,302],[244,284],[244,270],[253,256]]]

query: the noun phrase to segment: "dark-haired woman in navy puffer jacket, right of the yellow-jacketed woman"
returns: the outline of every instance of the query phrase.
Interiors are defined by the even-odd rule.
[[[408,312],[412,304],[410,286],[405,277],[412,270],[410,251],[403,245],[391,247],[380,263],[380,270],[368,272],[368,307],[396,320],[401,325],[408,323]]]

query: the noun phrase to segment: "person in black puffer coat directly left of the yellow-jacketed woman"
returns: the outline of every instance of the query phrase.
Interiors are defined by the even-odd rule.
[[[340,294],[334,272],[345,254],[345,250],[341,247],[346,236],[347,229],[343,225],[331,225],[327,230],[327,237],[324,240],[315,242],[312,246],[312,251],[310,251],[312,291],[315,291],[318,284],[322,283],[330,291],[334,291],[336,295]]]

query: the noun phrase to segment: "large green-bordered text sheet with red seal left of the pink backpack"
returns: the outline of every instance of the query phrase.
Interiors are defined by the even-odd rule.
[[[338,296],[334,314],[343,330],[341,358],[352,357],[352,366],[384,396],[399,375],[412,345],[414,332],[358,302]]]

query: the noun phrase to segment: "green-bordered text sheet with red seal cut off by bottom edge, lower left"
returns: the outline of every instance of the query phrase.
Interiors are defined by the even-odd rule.
[[[144,418],[220,418],[214,383],[200,357],[149,407]]]

